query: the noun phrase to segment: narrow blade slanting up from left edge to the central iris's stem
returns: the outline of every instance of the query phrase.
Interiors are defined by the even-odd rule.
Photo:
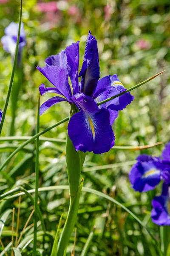
[[[24,142],[22,145],[20,145],[10,156],[4,161],[4,163],[0,166],[0,171],[6,166],[6,164],[11,160],[14,155],[16,155],[22,148],[24,148],[28,143],[34,141],[37,139],[40,135],[45,134],[45,132],[50,131],[54,127],[57,127],[58,125],[61,125],[62,123],[68,121],[69,117],[66,117],[65,119],[62,119],[61,121],[57,122],[55,125],[50,126],[49,128],[46,128],[44,131],[40,131],[38,134],[35,134],[33,137],[31,137],[29,140]]]

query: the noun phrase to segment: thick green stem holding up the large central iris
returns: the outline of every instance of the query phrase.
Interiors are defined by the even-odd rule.
[[[75,105],[71,105],[71,116],[76,113],[77,109]],[[66,140],[66,163],[68,172],[68,183],[70,191],[70,206],[68,210],[68,216],[65,221],[62,234],[59,239],[57,247],[57,256],[63,256],[64,250],[68,244],[74,225],[77,220],[77,213],[79,208],[79,198],[82,190],[83,180],[79,186],[80,174],[82,166],[85,160],[85,153],[76,151],[72,141],[67,134]]]

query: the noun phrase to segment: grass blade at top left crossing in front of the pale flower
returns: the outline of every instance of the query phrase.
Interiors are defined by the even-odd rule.
[[[6,111],[7,111],[7,108],[8,108],[9,97],[10,97],[10,94],[11,94],[12,84],[13,84],[13,80],[14,80],[15,68],[16,68],[16,65],[17,65],[18,48],[19,48],[19,42],[20,42],[21,19],[22,19],[22,4],[23,4],[23,1],[21,0],[21,2],[20,2],[20,17],[19,17],[19,25],[18,25],[18,35],[17,35],[17,44],[16,44],[16,49],[15,49],[15,56],[14,56],[14,63],[13,63],[12,73],[11,73],[11,79],[10,79],[9,87],[8,87],[8,93],[7,93],[7,96],[6,96],[6,102],[5,102],[5,106],[4,106],[4,109],[3,109],[3,116],[2,116],[2,119],[1,119],[1,123],[0,123],[0,134],[1,134],[1,131],[2,131],[2,128],[3,128],[3,123],[4,123],[4,120],[5,120]]]

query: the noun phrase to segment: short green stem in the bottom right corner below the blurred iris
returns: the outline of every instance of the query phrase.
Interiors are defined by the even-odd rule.
[[[170,256],[168,252],[168,247],[170,245],[170,226],[160,227],[161,233],[161,250],[164,253],[164,256]]]

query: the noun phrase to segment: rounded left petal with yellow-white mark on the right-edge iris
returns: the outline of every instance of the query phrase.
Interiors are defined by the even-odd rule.
[[[158,160],[149,155],[141,155],[136,160],[137,163],[129,173],[133,189],[139,192],[154,189],[161,179],[161,170],[156,166]]]

